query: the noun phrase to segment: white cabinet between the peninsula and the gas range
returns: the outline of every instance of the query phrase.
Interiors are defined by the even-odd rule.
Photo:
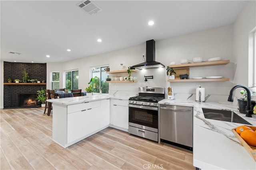
[[[111,99],[110,124],[112,127],[128,131],[128,100]]]

